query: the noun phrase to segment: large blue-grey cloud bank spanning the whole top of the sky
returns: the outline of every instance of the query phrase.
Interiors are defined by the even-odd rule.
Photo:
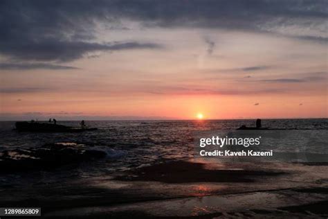
[[[322,42],[327,37],[317,33],[322,32],[320,27],[326,19],[325,0],[2,0],[0,54],[19,60],[70,61],[93,51],[158,48],[156,44],[140,42],[95,43],[96,24],[102,22],[124,28],[120,26],[122,20],[139,21],[143,26],[226,28],[262,33],[275,33],[275,27],[285,24],[300,28],[311,26],[316,33],[295,37]],[[286,35],[293,36],[293,33]]]

